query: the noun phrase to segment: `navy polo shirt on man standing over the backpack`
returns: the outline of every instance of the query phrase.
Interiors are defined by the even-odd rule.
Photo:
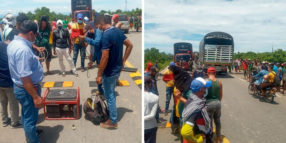
[[[120,73],[123,61],[123,42],[127,39],[122,30],[108,27],[100,39],[101,50],[109,50],[107,65],[103,71],[106,77],[116,76]]]

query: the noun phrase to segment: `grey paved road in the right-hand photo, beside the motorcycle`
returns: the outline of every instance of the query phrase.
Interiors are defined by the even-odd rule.
[[[221,134],[225,143],[285,142],[286,96],[277,93],[274,101],[267,103],[262,97],[248,94],[249,82],[242,79],[243,74],[231,73],[217,78],[223,83]],[[166,87],[162,76],[159,79],[159,106],[164,108]],[[172,103],[173,99],[170,107]],[[169,118],[170,114],[160,113],[162,122],[168,122]],[[179,142],[179,135],[171,133],[171,128],[159,128],[157,142]]]

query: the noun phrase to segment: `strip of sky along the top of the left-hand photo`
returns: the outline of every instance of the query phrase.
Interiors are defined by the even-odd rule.
[[[127,0],[127,9],[131,11],[132,9],[142,8],[141,0]],[[69,15],[69,12],[72,11],[71,0],[12,0],[5,1],[0,3],[0,16],[3,17],[6,13],[17,14],[20,12],[27,13],[28,11],[33,12],[37,7],[47,7],[55,13],[63,13]],[[116,11],[117,9],[125,10],[125,1],[124,0],[92,0],[92,9],[96,11],[110,9],[111,11]]]

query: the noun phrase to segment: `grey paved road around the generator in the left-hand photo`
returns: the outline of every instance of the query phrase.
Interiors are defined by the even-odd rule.
[[[142,33],[129,31],[126,34],[128,39],[133,43],[134,47],[128,61],[141,73],[141,57],[142,57]],[[89,53],[89,47],[88,53]],[[125,50],[125,46],[124,46]],[[73,56],[73,55],[72,55]],[[87,65],[88,59],[85,60]],[[91,96],[91,91],[95,92],[97,87],[89,87],[88,81],[95,81],[98,68],[93,65],[89,70],[90,78],[87,78],[86,71],[80,71],[80,55],[77,61],[78,77],[69,72],[69,66],[64,58],[64,64],[67,67],[66,76],[60,75],[60,67],[57,58],[51,61],[50,70],[55,75],[46,75],[43,82],[56,81],[74,81],[73,89],[80,87],[80,104],[84,104],[85,100]],[[42,143],[67,143],[67,142],[142,142],[142,107],[141,107],[141,90],[128,75],[129,72],[122,72],[119,80],[128,80],[130,86],[116,87],[116,105],[118,110],[118,129],[108,130],[94,125],[87,120],[84,112],[81,110],[80,119],[78,120],[45,120],[43,116],[43,108],[39,110],[39,120],[37,128],[43,129],[43,134],[39,137]],[[60,89],[60,88],[52,88]],[[42,88],[42,95],[46,88]],[[136,102],[134,102],[136,101]],[[21,111],[21,107],[20,107]],[[9,111],[8,111],[9,112]],[[72,124],[76,126],[76,130],[72,130]],[[0,127],[0,142],[25,142],[25,134],[23,128],[11,129],[10,126]]]

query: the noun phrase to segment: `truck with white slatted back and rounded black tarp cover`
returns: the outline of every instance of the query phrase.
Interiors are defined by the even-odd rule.
[[[207,73],[214,67],[217,74],[227,74],[227,66],[233,64],[233,37],[225,32],[210,32],[199,44],[199,61]]]

